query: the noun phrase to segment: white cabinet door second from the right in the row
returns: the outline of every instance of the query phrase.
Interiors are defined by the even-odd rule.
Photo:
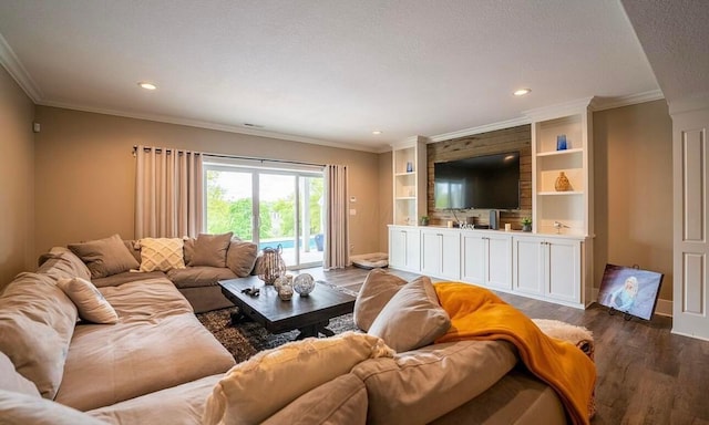
[[[514,290],[536,296],[544,294],[545,245],[538,238],[514,239]]]

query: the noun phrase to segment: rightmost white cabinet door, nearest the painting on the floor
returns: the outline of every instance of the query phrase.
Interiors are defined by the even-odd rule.
[[[580,242],[546,242],[546,296],[557,300],[580,302]]]

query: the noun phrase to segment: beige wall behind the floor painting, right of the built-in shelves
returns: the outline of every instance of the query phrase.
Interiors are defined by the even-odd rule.
[[[665,274],[672,299],[672,123],[667,103],[594,113],[595,269],[638,265]]]

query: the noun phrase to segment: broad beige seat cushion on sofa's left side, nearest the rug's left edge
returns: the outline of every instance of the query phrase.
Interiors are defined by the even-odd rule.
[[[224,373],[234,357],[192,313],[76,326],[55,401],[80,411]]]

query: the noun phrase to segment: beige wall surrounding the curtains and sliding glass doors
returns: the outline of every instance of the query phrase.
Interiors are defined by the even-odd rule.
[[[134,236],[135,159],[133,145],[173,147],[216,154],[345,164],[353,253],[379,250],[379,155],[157,123],[38,106],[35,253],[52,246],[117,232]]]

